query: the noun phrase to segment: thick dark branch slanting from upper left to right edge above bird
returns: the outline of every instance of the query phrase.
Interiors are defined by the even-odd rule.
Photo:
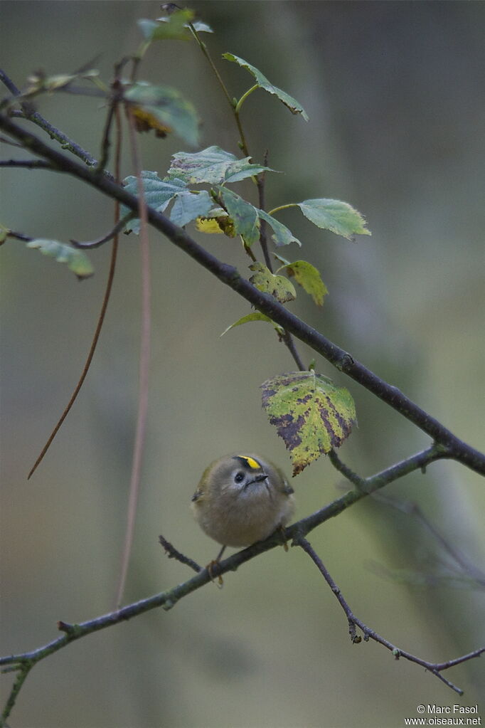
[[[123,205],[132,210],[135,214],[138,210],[138,200],[135,195],[129,194],[120,185],[114,183],[105,176],[97,176],[89,167],[79,164],[76,159],[71,159],[57,149],[52,149],[33,134],[17,126],[11,119],[0,114],[0,128],[9,135],[22,142],[33,154],[49,159],[56,169],[77,177],[90,186],[95,187],[103,194],[118,199]],[[223,263],[212,253],[201,247],[195,240],[183,230],[177,227],[165,215],[157,213],[152,207],[147,208],[148,222],[159,232],[163,233],[174,245],[191,256],[201,266],[204,266],[220,281],[232,288],[240,296],[246,298],[258,311],[268,315],[273,321],[283,326],[286,331],[292,333],[297,339],[308,344],[315,352],[321,354],[339,371],[350,376],[363,387],[380,398],[401,413],[410,422],[413,422],[423,432],[430,435],[433,440],[444,448],[444,457],[451,457],[458,462],[470,467],[482,475],[485,475],[485,455],[462,442],[450,430],[444,427],[441,422],[430,416],[427,412],[416,405],[409,397],[403,394],[397,387],[388,384],[363,364],[354,360],[348,352],[340,349],[329,339],[326,339],[316,329],[309,326],[300,318],[278,304],[275,298],[268,293],[262,293],[254,288],[249,280],[242,277],[234,266]]]

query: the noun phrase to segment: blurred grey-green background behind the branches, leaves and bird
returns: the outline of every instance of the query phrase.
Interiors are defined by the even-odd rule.
[[[485,6],[461,2],[195,2],[215,29],[214,58],[249,60],[305,107],[308,124],[256,92],[242,120],[268,178],[270,207],[335,197],[366,215],[372,237],[354,245],[287,223],[302,257],[329,288],[323,309],[300,292],[291,309],[400,387],[458,436],[483,446],[483,230]],[[20,87],[32,71],[71,72],[98,54],[113,64],[140,42],[148,1],[3,1],[1,66]],[[219,62],[241,95],[245,71]],[[202,148],[237,153],[236,129],[195,44],[148,52],[143,79],[171,84],[203,119]],[[3,93],[3,92],[2,92]],[[55,95],[39,111],[98,154],[99,100]],[[25,124],[28,127],[28,124]],[[34,130],[40,136],[43,132]],[[126,138],[125,138],[126,141]],[[185,143],[140,137],[143,167],[161,175]],[[190,150],[187,150],[190,151]],[[2,158],[25,158],[5,146]],[[132,173],[129,155],[123,174]],[[252,194],[250,186],[242,187]],[[71,179],[4,170],[0,220],[36,237],[90,240],[112,206]],[[192,231],[191,231],[192,232]],[[246,271],[236,241],[196,237]],[[222,239],[221,239],[222,238]],[[300,251],[284,250],[300,257]],[[65,266],[9,241],[1,250],[1,654],[55,638],[57,620],[113,608],[127,510],[140,338],[138,239],[122,237],[105,327],[81,396],[39,470],[30,470],[71,395],[103,296],[108,246],[78,283]],[[125,602],[188,578],[164,556],[159,534],[201,563],[217,546],[193,524],[188,502],[202,470],[227,451],[260,451],[289,472],[289,457],[260,407],[260,383],[294,364],[270,328],[220,333],[249,312],[242,299],[167,240],[151,234],[153,350],[148,438]],[[300,347],[305,360],[310,352]],[[349,387],[359,427],[340,451],[370,475],[428,438],[322,360]],[[326,459],[297,478],[302,517],[340,494]],[[417,502],[476,566],[484,563],[483,482],[452,462],[388,486]],[[484,641],[484,593],[412,516],[366,499],[310,541],[354,612],[402,649],[447,660]],[[406,578],[402,578],[407,574]],[[425,582],[419,585],[417,582]],[[374,643],[350,644],[344,614],[313,563],[292,549],[252,561],[171,612],[103,630],[41,662],[20,695],[15,728],[398,727],[419,703],[485,712],[484,660],[446,675],[459,698],[422,668]],[[3,676],[7,696],[12,676]]]

